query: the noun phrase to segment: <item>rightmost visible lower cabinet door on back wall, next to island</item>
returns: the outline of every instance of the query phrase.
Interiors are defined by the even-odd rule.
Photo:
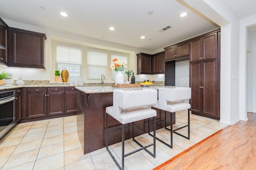
[[[77,112],[77,91],[65,91],[65,110],[64,113]]]

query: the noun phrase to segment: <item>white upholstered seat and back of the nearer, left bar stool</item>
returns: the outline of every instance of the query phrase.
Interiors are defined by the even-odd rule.
[[[151,105],[157,102],[157,91],[153,89],[122,91],[114,90],[113,106],[106,113],[122,123],[132,123],[156,116]]]

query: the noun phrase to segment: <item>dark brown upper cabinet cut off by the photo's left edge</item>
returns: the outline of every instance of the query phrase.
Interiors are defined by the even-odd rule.
[[[0,18],[0,63],[7,65],[7,29],[8,26]]]

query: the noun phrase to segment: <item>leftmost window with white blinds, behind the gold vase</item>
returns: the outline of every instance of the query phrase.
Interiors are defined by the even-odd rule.
[[[56,45],[56,69],[68,70],[69,79],[82,79],[82,50]]]

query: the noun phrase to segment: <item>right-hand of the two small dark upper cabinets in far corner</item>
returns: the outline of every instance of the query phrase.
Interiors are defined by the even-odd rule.
[[[165,73],[165,55],[164,51],[156,53],[153,56],[153,74]]]

